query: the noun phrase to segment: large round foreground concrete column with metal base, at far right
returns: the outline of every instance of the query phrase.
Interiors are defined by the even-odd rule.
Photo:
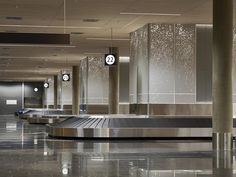
[[[213,0],[213,149],[232,149],[233,1]]]

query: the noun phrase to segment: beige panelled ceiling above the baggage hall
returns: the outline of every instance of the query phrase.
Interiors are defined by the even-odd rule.
[[[1,32],[69,33],[71,45],[0,45],[0,80],[45,80],[111,45],[128,56],[129,33],[147,23],[211,21],[212,0],[1,0]]]

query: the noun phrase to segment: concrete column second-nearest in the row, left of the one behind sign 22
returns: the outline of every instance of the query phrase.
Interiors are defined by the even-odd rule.
[[[80,111],[79,68],[79,66],[72,68],[72,112],[75,115],[79,115]]]

